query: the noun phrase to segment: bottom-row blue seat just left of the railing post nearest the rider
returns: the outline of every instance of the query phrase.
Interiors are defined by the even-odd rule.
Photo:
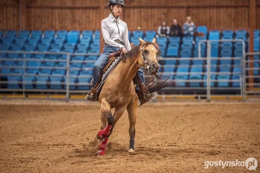
[[[50,82],[55,82],[55,84],[51,83],[50,89],[60,90],[63,88],[64,84],[61,84],[61,82],[64,81],[64,78],[61,75],[64,75],[64,73],[60,70],[54,70],[52,72],[52,76],[50,76]]]

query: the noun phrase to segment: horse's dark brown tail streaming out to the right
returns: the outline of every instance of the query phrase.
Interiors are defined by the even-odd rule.
[[[148,88],[149,92],[156,92],[167,86],[178,85],[174,80],[170,79],[170,75],[166,76],[160,74],[160,79],[154,75],[145,75],[145,86]]]

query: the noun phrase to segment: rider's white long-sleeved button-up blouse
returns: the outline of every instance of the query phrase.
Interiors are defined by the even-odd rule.
[[[131,46],[128,40],[127,24],[118,17],[117,26],[115,19],[113,15],[109,14],[107,18],[101,21],[101,29],[105,43],[122,49],[124,46],[117,42],[124,42],[126,50],[129,51],[131,50]]]

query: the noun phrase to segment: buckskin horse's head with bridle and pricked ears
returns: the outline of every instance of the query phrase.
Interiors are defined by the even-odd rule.
[[[159,70],[159,64],[157,61],[157,54],[158,51],[154,47],[155,43],[155,37],[152,42],[144,41],[139,37],[140,41],[140,51],[141,51],[141,56],[138,58],[138,63],[147,68],[147,65],[149,66],[149,70],[151,74],[156,74]]]

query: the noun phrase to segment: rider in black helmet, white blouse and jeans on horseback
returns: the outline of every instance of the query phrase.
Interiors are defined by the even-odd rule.
[[[122,11],[122,8],[125,7],[125,2],[123,0],[109,0],[108,8],[111,11],[109,16],[101,21],[101,29],[103,38],[105,40],[105,45],[103,49],[103,53],[97,59],[93,66],[93,84],[92,87],[95,86],[97,80],[99,78],[100,72],[108,61],[108,55],[114,51],[121,50],[124,54],[131,50],[131,46],[128,40],[128,29],[127,24],[120,20],[119,15]],[[144,74],[141,69],[137,72],[140,77],[142,83],[144,83]],[[140,102],[143,102],[143,96],[149,101],[153,96],[152,94],[144,94],[138,86],[135,87],[135,92],[138,95]],[[88,95],[86,98],[89,101],[95,101],[95,94]]]

